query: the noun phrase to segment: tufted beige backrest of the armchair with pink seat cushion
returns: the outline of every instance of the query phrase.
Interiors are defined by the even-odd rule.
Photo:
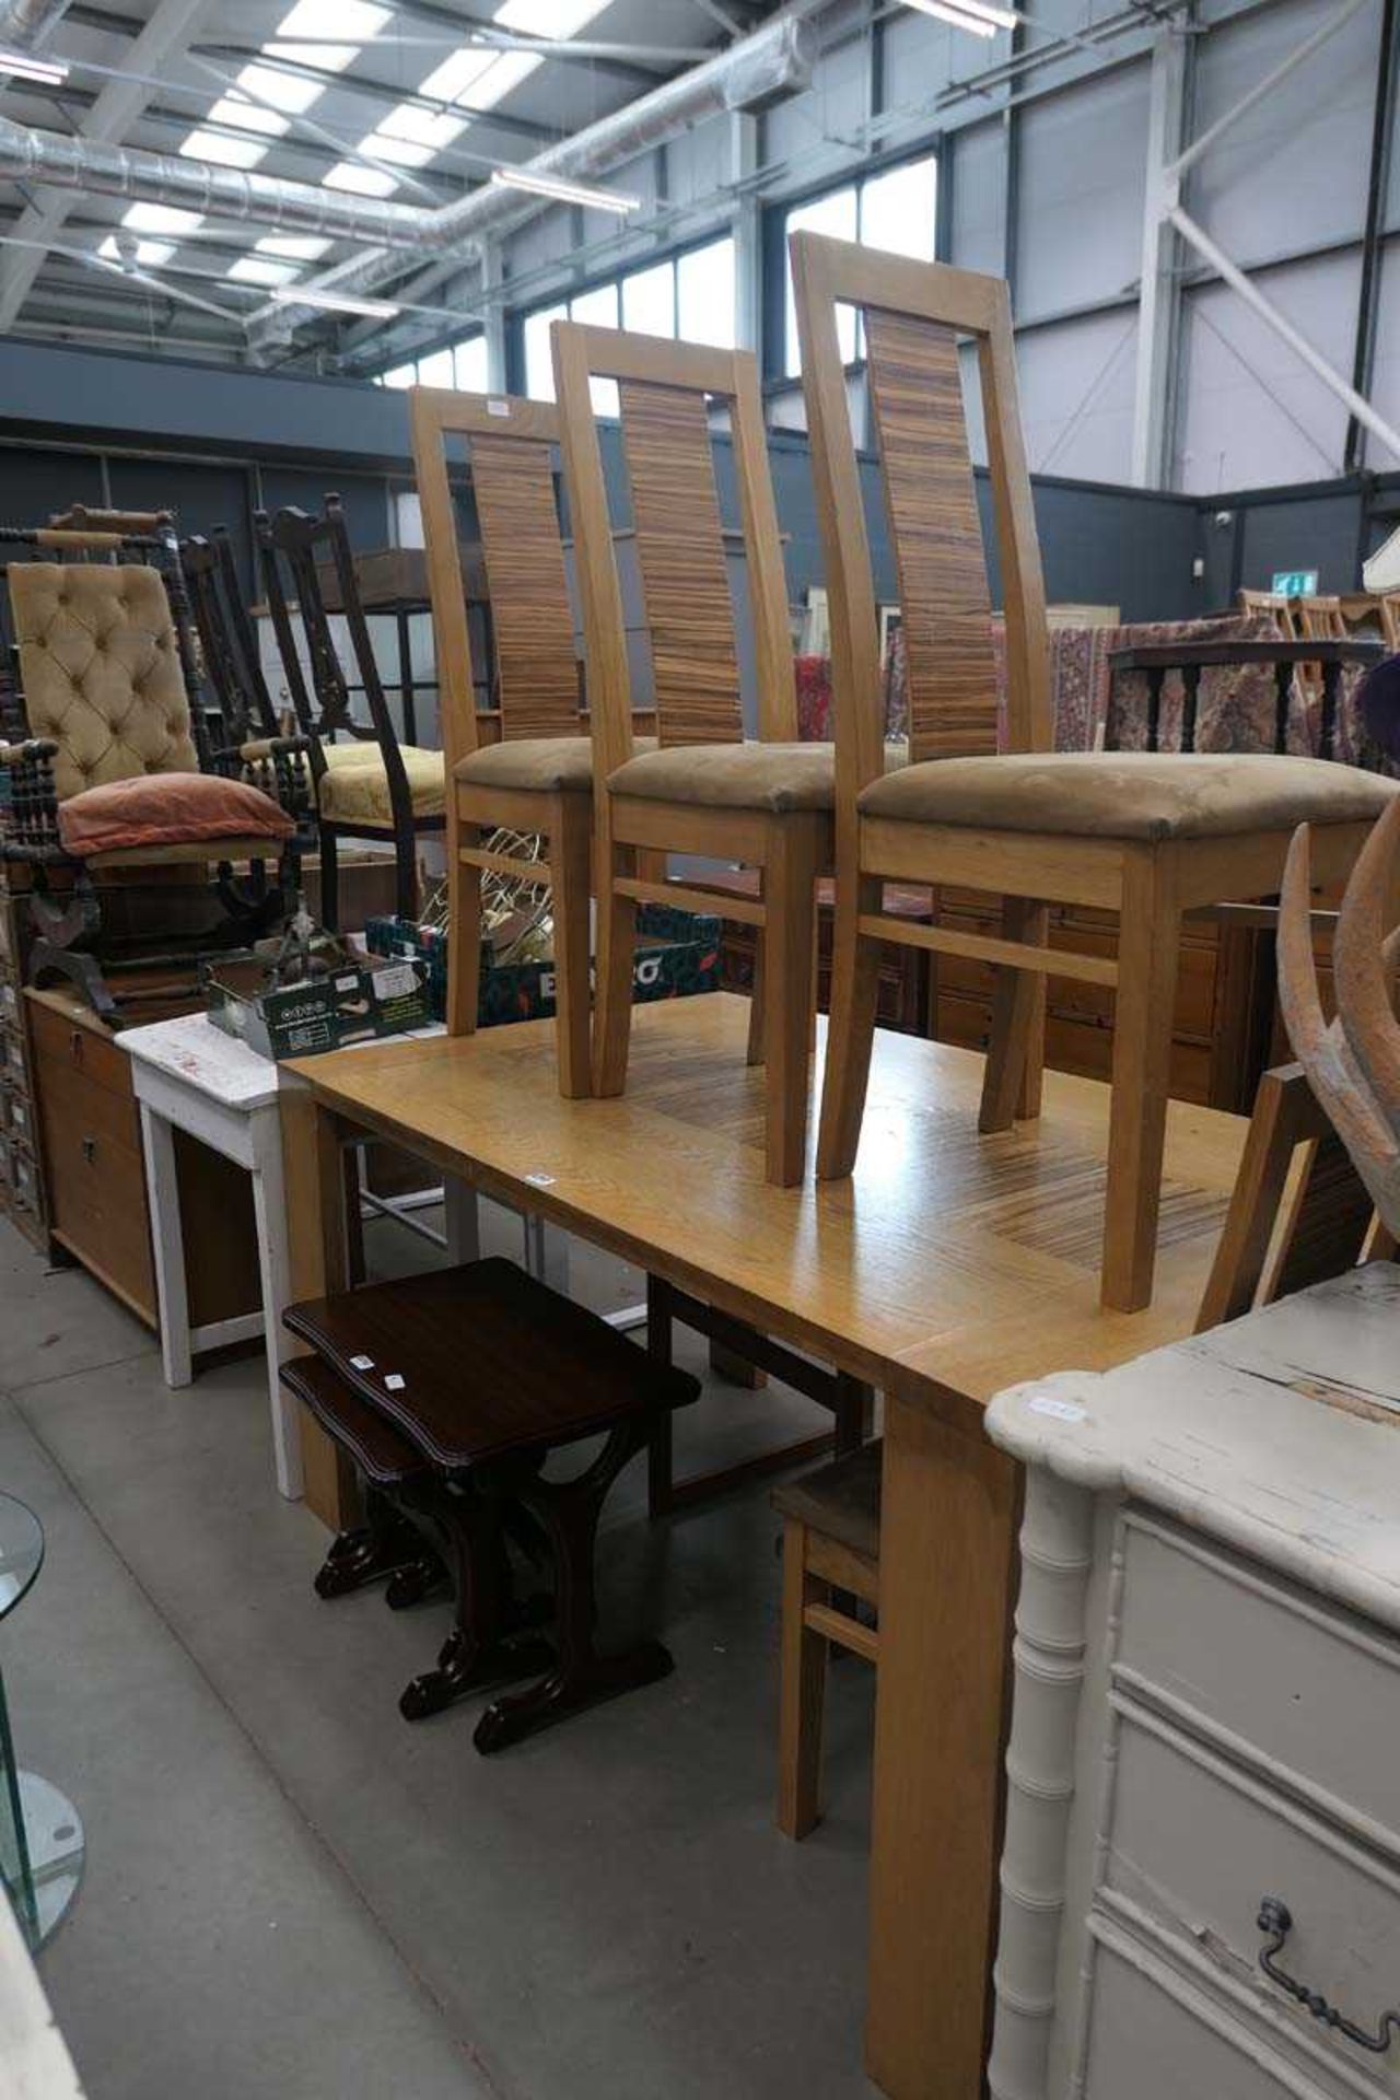
[[[31,737],[52,737],[59,800],[143,773],[195,773],[166,586],[143,565],[8,571]]]

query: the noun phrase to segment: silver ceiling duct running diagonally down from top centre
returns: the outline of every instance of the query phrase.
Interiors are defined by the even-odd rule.
[[[644,153],[646,147],[659,145],[684,124],[697,124],[701,118],[733,109],[764,107],[783,94],[800,92],[812,80],[816,57],[816,29],[810,17],[825,4],[827,0],[798,0],[754,36],[745,36],[718,57],[705,59],[703,65],[665,80],[611,116],[598,118],[573,139],[546,147],[544,153],[523,162],[523,168],[533,174],[571,178],[607,174],[636,153]],[[439,252],[447,248],[468,256],[487,233],[504,233],[542,210],[548,206],[531,204],[518,191],[483,185],[458,204],[447,204],[432,214],[439,237],[430,246]],[[401,269],[403,262],[395,254],[353,256],[317,277],[317,284],[336,292],[374,294],[401,275]],[[254,346],[285,340],[290,328],[313,317],[311,307],[296,302],[267,309],[254,315],[250,340]]]

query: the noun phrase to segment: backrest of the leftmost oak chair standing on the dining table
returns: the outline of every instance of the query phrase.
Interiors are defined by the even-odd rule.
[[[472,477],[502,737],[577,737],[579,659],[558,517],[558,410],[439,386],[409,393],[447,766],[481,743],[449,447]]]

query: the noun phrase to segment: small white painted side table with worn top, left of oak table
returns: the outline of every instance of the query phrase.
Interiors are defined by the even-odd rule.
[[[181,1014],[151,1027],[124,1029],[115,1040],[130,1054],[132,1086],[141,1107],[166,1384],[189,1386],[193,1382],[195,1350],[220,1348],[227,1342],[246,1342],[262,1334],[277,1487],[296,1499],[302,1491],[296,1401],[283,1392],[277,1378],[285,1354],[281,1315],[288,1304],[277,1067],[250,1050],[246,1042],[225,1035],[206,1014]],[[181,1186],[174,1168],[176,1130],[210,1144],[252,1176],[262,1306],[256,1312],[218,1321],[214,1327],[189,1325]]]

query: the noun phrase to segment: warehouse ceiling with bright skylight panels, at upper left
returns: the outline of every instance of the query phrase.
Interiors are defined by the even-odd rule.
[[[770,0],[0,0],[0,126],[432,210],[722,52]],[[63,78],[21,78],[4,55]],[[0,178],[0,334],[323,363],[269,307],[367,242]],[[401,254],[403,275],[422,256]]]

